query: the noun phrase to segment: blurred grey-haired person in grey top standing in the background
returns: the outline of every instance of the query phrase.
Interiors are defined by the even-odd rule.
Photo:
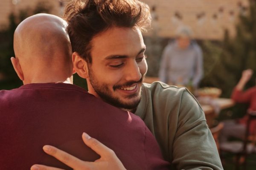
[[[159,77],[169,85],[197,88],[203,76],[203,59],[200,46],[191,40],[188,27],[177,30],[177,37],[163,50]]]

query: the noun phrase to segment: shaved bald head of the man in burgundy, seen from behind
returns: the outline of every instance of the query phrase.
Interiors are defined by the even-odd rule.
[[[66,25],[55,15],[36,14],[17,26],[14,33],[16,59],[12,58],[12,63],[23,84],[64,82],[72,76],[72,52]]]

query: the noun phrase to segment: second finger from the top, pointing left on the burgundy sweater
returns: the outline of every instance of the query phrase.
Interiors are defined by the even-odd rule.
[[[81,161],[80,159],[76,158],[75,156],[70,155],[69,153],[66,153],[56,147],[45,145],[43,147],[44,152],[46,152],[48,155],[51,155],[58,159],[59,161],[63,162],[69,167],[72,167],[73,169],[79,169],[82,165],[86,164],[86,162]],[[40,169],[41,170],[41,169]],[[46,170],[55,170],[55,169],[46,169]],[[56,169],[59,170],[59,169]]]

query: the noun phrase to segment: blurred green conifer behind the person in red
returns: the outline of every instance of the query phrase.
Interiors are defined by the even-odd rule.
[[[223,97],[230,97],[233,88],[241,77],[241,72],[247,68],[254,71],[253,77],[247,83],[247,88],[255,85],[256,78],[256,3],[250,1],[247,14],[241,12],[236,25],[236,36],[230,37],[226,30],[220,46],[204,43],[204,50],[211,51],[204,55],[205,77],[201,86],[221,88]],[[215,52],[214,52],[215,51]],[[216,55],[215,55],[216,54]],[[216,57],[219,56],[219,57]],[[208,59],[210,57],[211,59]],[[213,68],[207,60],[214,60]]]

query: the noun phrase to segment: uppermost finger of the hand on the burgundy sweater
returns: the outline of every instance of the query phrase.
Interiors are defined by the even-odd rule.
[[[97,139],[90,137],[87,133],[82,134],[82,139],[88,147],[90,147],[92,150],[98,153],[103,159],[107,157],[109,158],[110,156],[113,157],[116,155],[113,150],[106,147]]]

